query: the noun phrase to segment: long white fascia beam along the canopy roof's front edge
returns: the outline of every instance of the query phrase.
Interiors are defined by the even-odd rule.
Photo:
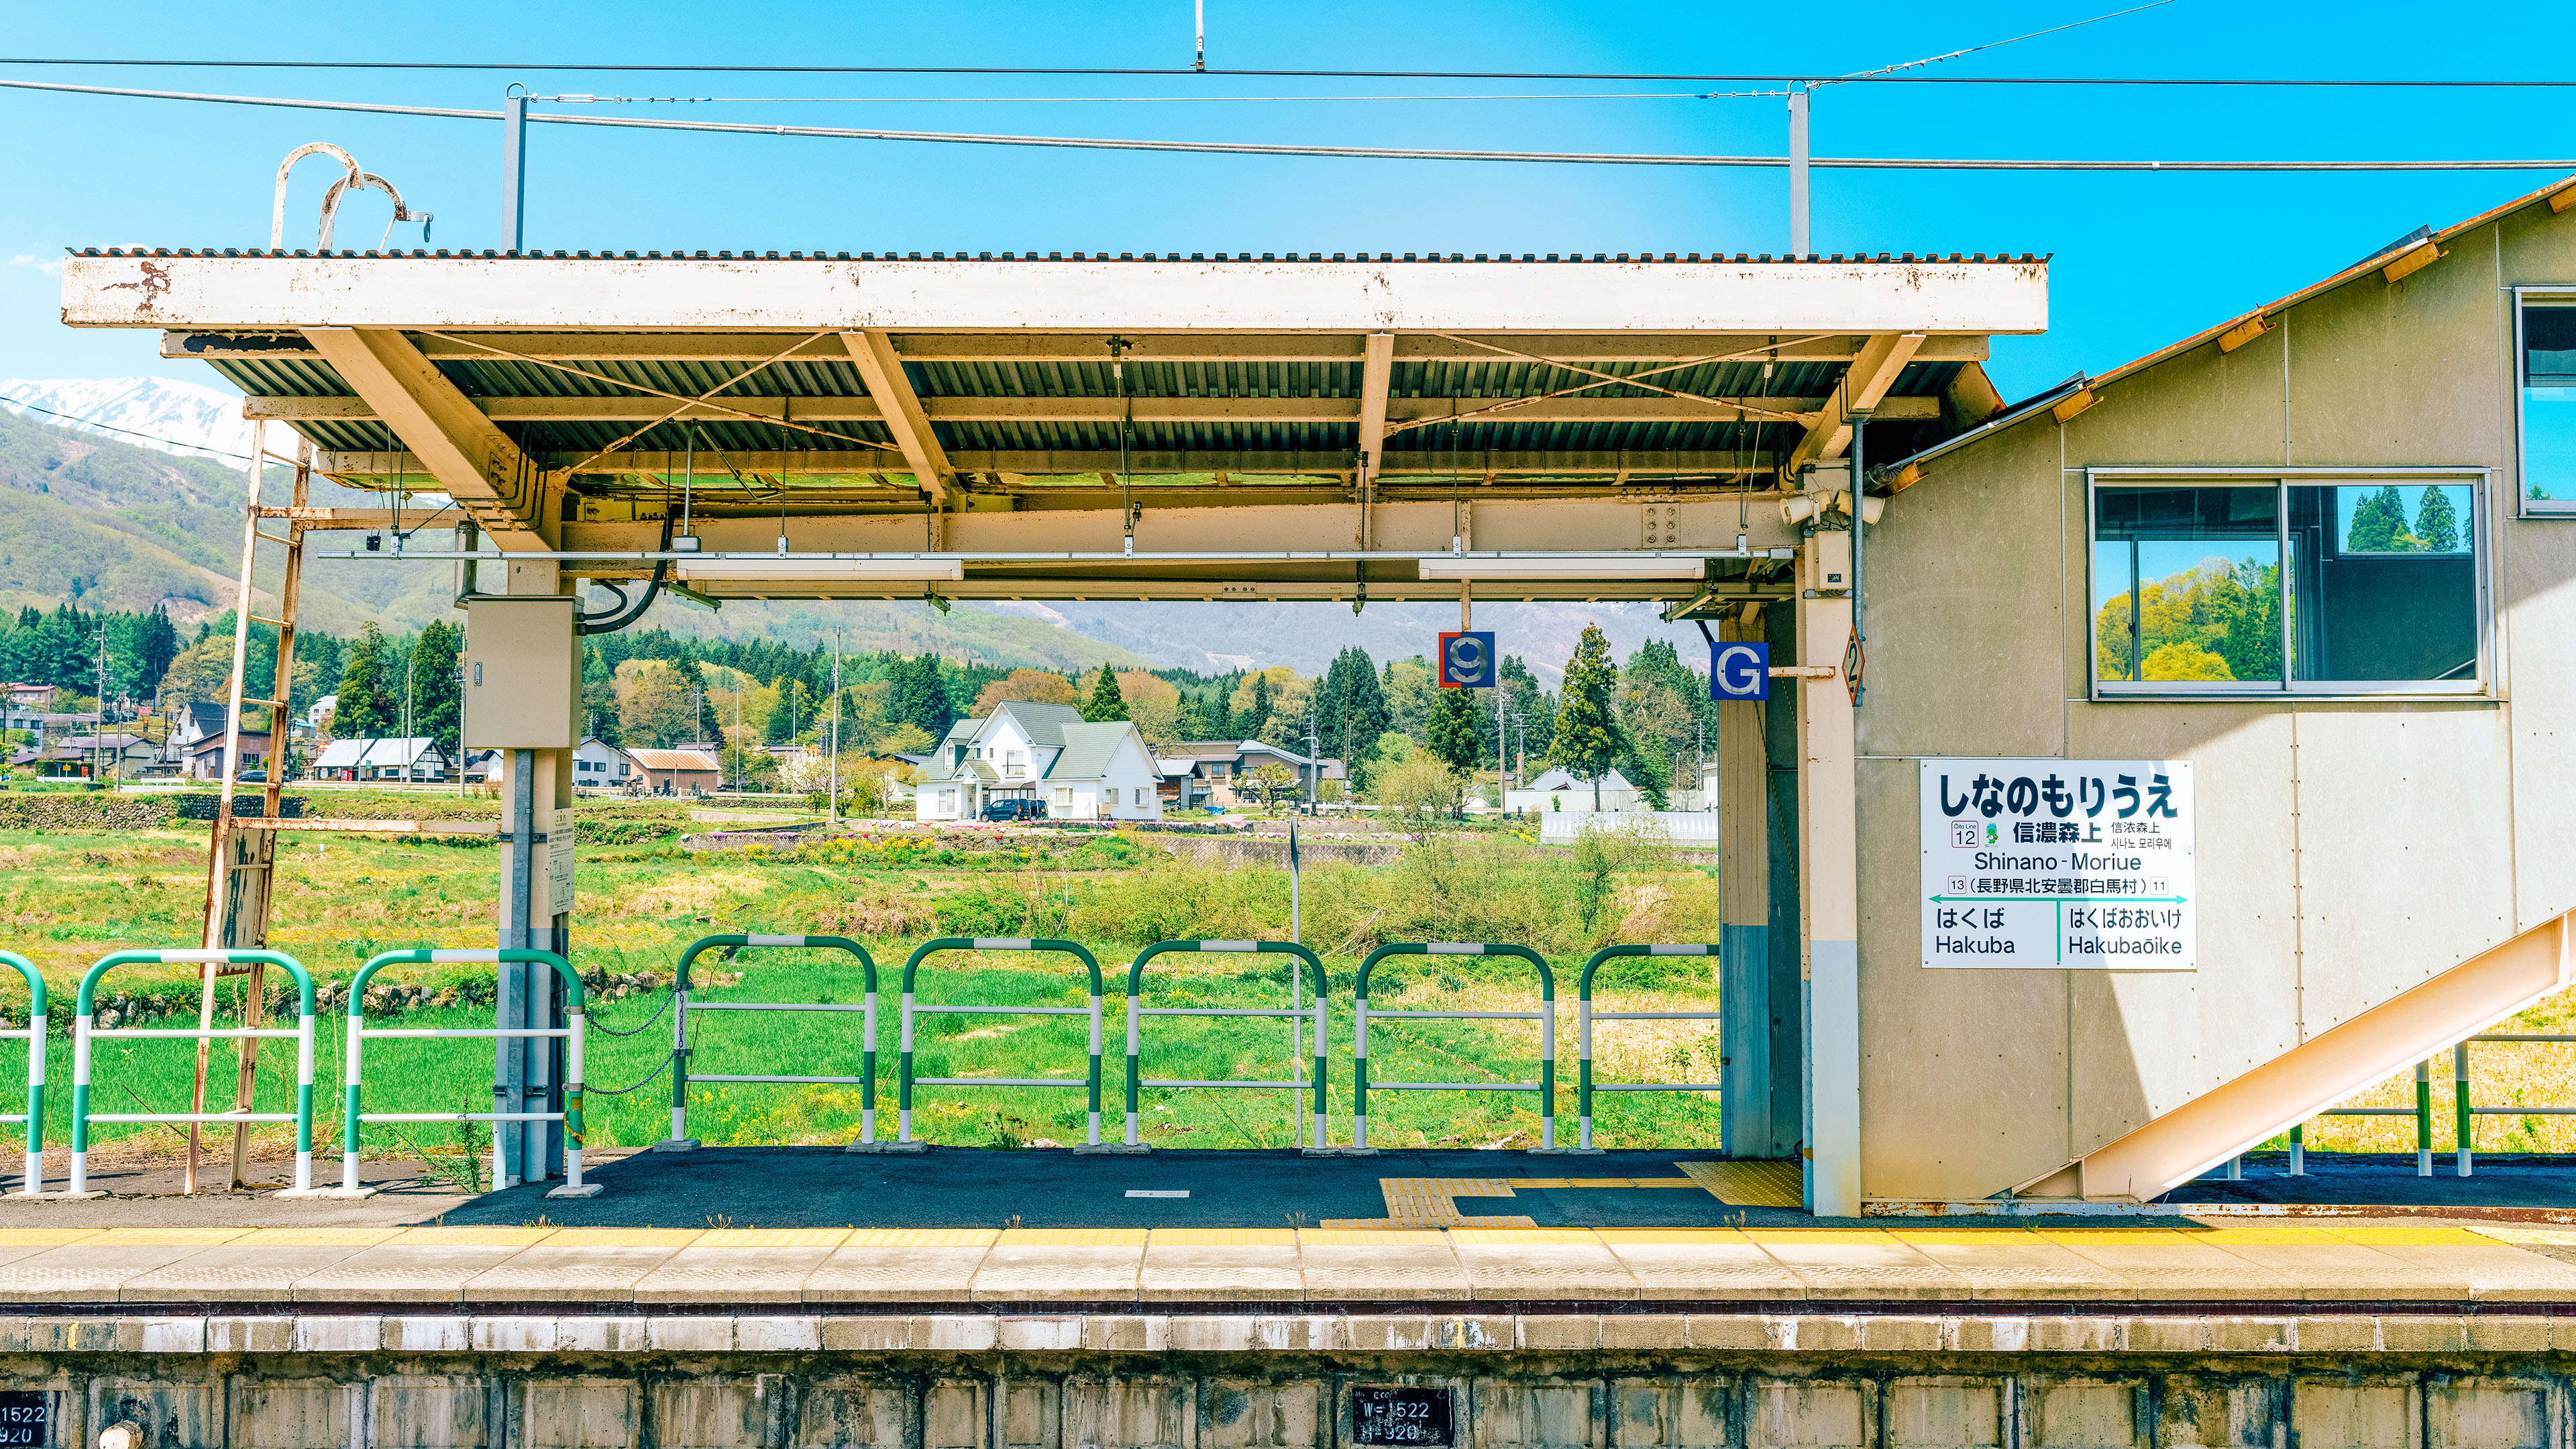
[[[77,255],[75,327],[2040,333],[2045,260],[1175,263]]]

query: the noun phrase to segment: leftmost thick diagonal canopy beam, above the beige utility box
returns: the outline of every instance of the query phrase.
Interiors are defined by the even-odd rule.
[[[510,552],[551,547],[562,526],[562,477],[523,454],[402,333],[307,327],[304,335],[484,536]]]

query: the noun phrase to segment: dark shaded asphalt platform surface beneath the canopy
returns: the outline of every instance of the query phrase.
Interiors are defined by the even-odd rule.
[[[920,1155],[840,1147],[701,1147],[636,1152],[585,1173],[608,1191],[546,1199],[541,1189],[451,1207],[448,1225],[567,1227],[1321,1227],[1383,1220],[1378,1178],[1674,1178],[1716,1152],[1383,1152],[1301,1158],[1291,1150],[1157,1150],[1139,1158],[1051,1147],[933,1147]],[[1190,1196],[1128,1196],[1188,1191]],[[1721,1227],[1814,1222],[1803,1212],[1728,1207],[1700,1189],[1520,1189],[1458,1199],[1471,1217],[1538,1227]]]

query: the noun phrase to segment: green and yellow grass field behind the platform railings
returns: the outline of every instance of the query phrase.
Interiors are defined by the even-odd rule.
[[[44,969],[57,993],[52,1021],[54,1088],[49,1140],[70,1134],[72,985],[88,962],[121,946],[180,944],[193,933],[201,900],[201,838],[149,835],[0,835],[0,946],[15,946]],[[1432,851],[1435,856],[1440,851]],[[592,1011],[587,1078],[595,1145],[647,1145],[670,1129],[672,1047],[670,972],[688,941],[708,933],[853,933],[881,962],[878,1132],[894,1134],[896,1000],[902,959],[933,933],[1059,933],[1084,941],[1103,962],[1103,1134],[1123,1132],[1126,1024],[1121,1016],[1128,962],[1144,941],[1164,936],[1285,936],[1285,877],[1270,869],[1182,866],[1133,841],[1043,846],[1018,853],[938,859],[935,848],[829,846],[791,856],[742,851],[680,856],[667,846],[600,848],[580,864],[582,910],[574,959],[611,975],[654,972],[659,990],[603,1000]],[[1558,853],[1561,856],[1561,853]],[[489,846],[289,838],[278,859],[278,910],[270,941],[319,980],[348,980],[376,951],[402,946],[489,944]],[[1530,938],[1528,926],[1582,897],[1564,864],[1517,843],[1471,843],[1425,869],[1309,871],[1309,941],[1324,944],[1329,1000],[1332,1140],[1350,1134],[1350,977],[1378,938],[1476,936]],[[1517,874],[1515,874],[1517,871]],[[1522,879],[1525,877],[1525,879]],[[1623,926],[1667,931],[1700,920],[1713,882],[1695,869],[1618,871],[1613,900],[1595,902],[1602,938]],[[1623,910],[1623,915],[1620,915]],[[1404,931],[1412,928],[1412,931]],[[1481,928],[1481,931],[1479,931]],[[1512,931],[1512,933],[1504,933]],[[1564,987],[1558,1013],[1558,1122],[1574,1132],[1574,969],[1584,941],[1571,926],[1553,931],[1551,959]],[[1662,936],[1659,936],[1662,938]],[[489,967],[389,967],[376,985],[420,985],[433,1006],[371,1016],[386,1026],[489,1026],[489,1006],[435,1006],[440,993]],[[711,977],[734,977],[706,985]],[[1311,975],[1311,972],[1309,972]],[[837,951],[744,951],[724,962],[701,957],[696,1000],[858,1003],[860,975]],[[1602,1000],[1620,1008],[1669,1006],[1710,1011],[1716,972],[1705,959],[1641,959],[1607,967]],[[1314,982],[1303,980],[1311,1000]],[[157,995],[183,1006],[152,1026],[193,1021],[191,967],[126,967],[100,982],[98,1000]],[[224,1021],[234,1021],[240,980],[222,982]],[[1288,1006],[1283,957],[1170,954],[1149,967],[1154,1006],[1280,1008]],[[1072,957],[943,954],[920,972],[922,1003],[1072,1006],[1087,980]],[[15,993],[0,987],[0,998]],[[1522,1011],[1535,1008],[1535,975],[1497,959],[1394,959],[1370,987],[1378,1008]],[[149,1011],[149,1008],[147,1008]],[[659,1016],[657,1016],[659,1011]],[[649,1026],[644,1026],[649,1021]],[[641,1031],[613,1036],[611,1031]],[[860,1075],[858,1013],[696,1013],[693,1075]],[[1084,1137],[1087,1021],[1082,1016],[922,1016],[917,1073],[925,1078],[1066,1078],[1056,1088],[920,1088],[914,1134],[951,1145],[1079,1142]],[[1288,1024],[1278,1018],[1149,1018],[1144,1075],[1188,1080],[1303,1080],[1291,1062]],[[317,1150],[335,1152],[340,1132],[345,1024],[337,1011],[317,1021]],[[229,1101],[232,1044],[214,1049],[219,1101]],[[1716,1024],[1618,1024],[1600,1029],[1602,1080],[1713,1080]],[[1538,1078],[1538,1026],[1520,1021],[1386,1021],[1370,1031],[1381,1080],[1512,1083]],[[93,1065],[95,1111],[185,1109],[196,1044],[183,1039],[100,1039]],[[21,1070],[23,1044],[0,1044],[0,1080]],[[289,1042],[260,1049],[260,1111],[291,1101]],[[662,1075],[654,1075],[662,1070]],[[371,1111],[489,1109],[489,1042],[371,1042],[366,1057]],[[603,1096],[647,1080],[634,1093]],[[1283,1147],[1311,1096],[1278,1088],[1149,1091],[1144,1137],[1193,1147]],[[1373,1142],[1381,1145],[1535,1145],[1535,1093],[1373,1093]],[[842,1142],[860,1127],[855,1085],[698,1083],[690,1088],[690,1134],[706,1142]],[[1623,1093],[1602,1106],[1602,1145],[1713,1147],[1713,1093]],[[286,1147],[289,1129],[258,1132],[263,1150]],[[482,1127],[376,1124],[368,1155],[448,1155],[464,1160],[487,1140]],[[93,1142],[147,1147],[183,1142],[180,1127],[98,1124]]]

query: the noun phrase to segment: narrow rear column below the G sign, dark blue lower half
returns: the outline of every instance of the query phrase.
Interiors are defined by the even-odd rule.
[[[1726,642],[1762,639],[1762,606],[1718,627]],[[1718,704],[1718,1080],[1726,1152],[1777,1158],[1772,1140],[1770,990],[1770,761],[1762,750],[1767,704]]]

